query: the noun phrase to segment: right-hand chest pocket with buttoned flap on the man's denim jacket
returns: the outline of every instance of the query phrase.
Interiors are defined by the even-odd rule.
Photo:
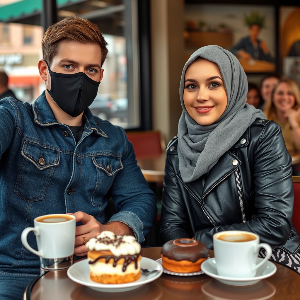
[[[111,155],[100,155],[92,157],[95,170],[97,172],[95,190],[91,196],[91,202],[94,206],[101,205],[101,197],[105,196],[117,173],[123,169],[121,158]],[[99,199],[100,198],[100,203]]]

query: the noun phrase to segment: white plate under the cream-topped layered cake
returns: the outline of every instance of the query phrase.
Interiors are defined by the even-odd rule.
[[[162,266],[153,259],[142,257],[141,268],[143,269],[152,269],[158,270],[154,273],[143,274],[141,271],[141,277],[133,282],[128,283],[119,283],[119,284],[105,284],[97,283],[90,279],[90,271],[88,266],[88,259],[80,260],[79,262],[74,263],[67,270],[68,277],[82,285],[88,286],[91,289],[100,292],[126,292],[132,289],[137,289],[145,283],[151,282],[156,278],[160,277],[163,273]]]

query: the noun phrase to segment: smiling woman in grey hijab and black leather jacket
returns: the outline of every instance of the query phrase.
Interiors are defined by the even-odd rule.
[[[246,95],[243,68],[220,46],[198,49],[185,64],[178,137],[167,148],[161,241],[194,237],[212,249],[214,233],[245,230],[289,265],[289,253],[300,248],[291,157],[280,127],[245,104]]]

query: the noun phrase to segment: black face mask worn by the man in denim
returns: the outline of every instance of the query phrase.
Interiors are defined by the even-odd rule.
[[[47,62],[46,62],[47,63]],[[50,70],[47,63],[51,90],[48,91],[56,104],[68,115],[77,117],[95,100],[100,82],[85,73],[64,74]]]

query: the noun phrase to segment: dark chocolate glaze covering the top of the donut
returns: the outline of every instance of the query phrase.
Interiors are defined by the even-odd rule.
[[[208,248],[193,238],[177,238],[165,243],[161,248],[161,254],[177,261],[185,259],[196,262],[200,258],[208,257]]]

